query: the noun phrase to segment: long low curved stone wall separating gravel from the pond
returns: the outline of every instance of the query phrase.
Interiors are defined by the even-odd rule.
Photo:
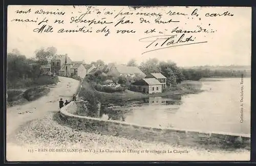
[[[62,118],[65,118],[68,124],[84,131],[95,131],[106,135],[120,135],[129,139],[161,141],[172,145],[198,148],[207,146],[209,149],[250,149],[250,136],[246,134],[204,133],[173,128],[153,128],[119,121],[74,115],[73,113],[76,109],[76,103],[71,102],[69,105],[61,108],[60,115]]]

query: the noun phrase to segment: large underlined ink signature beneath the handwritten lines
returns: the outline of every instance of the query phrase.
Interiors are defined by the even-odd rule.
[[[150,36],[139,39],[142,42],[150,42],[146,45],[146,49],[152,48],[152,50],[146,51],[142,54],[157,51],[161,49],[171,48],[174,46],[190,45],[190,44],[199,44],[206,43],[207,41],[195,42],[196,37],[189,36],[185,37],[185,34],[179,35],[159,35],[159,36]]]

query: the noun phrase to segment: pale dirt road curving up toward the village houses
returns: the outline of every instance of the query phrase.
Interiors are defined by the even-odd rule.
[[[33,102],[25,105],[9,107],[6,110],[6,136],[15,132],[19,126],[44,117],[50,112],[59,111],[58,100],[71,100],[74,93],[76,93],[79,86],[79,81],[59,77],[60,83],[56,87],[52,87],[47,96],[41,97]]]

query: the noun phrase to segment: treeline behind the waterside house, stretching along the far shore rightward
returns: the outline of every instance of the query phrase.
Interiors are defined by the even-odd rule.
[[[135,66],[136,61],[130,60],[127,65]],[[172,61],[159,61],[157,58],[148,59],[138,66],[143,73],[162,73],[167,78],[167,84],[175,86],[184,80],[198,81],[202,78],[212,77],[250,77],[250,69],[247,66],[198,66],[191,68],[178,67]]]

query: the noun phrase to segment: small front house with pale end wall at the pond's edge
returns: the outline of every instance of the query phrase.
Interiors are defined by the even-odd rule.
[[[161,93],[162,84],[155,78],[144,78],[132,83],[130,89],[147,94]]]

